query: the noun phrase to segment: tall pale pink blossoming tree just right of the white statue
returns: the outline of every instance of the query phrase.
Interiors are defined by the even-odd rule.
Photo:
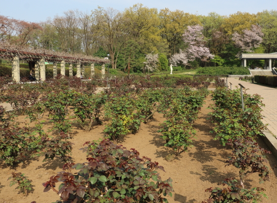
[[[202,34],[203,27],[200,25],[187,26],[187,30],[183,34],[183,40],[187,45],[185,50],[180,50],[179,53],[174,54],[171,60],[176,65],[183,63],[188,65],[189,61],[200,58],[202,61],[208,61],[214,55],[210,53],[209,48],[205,47],[206,40]]]

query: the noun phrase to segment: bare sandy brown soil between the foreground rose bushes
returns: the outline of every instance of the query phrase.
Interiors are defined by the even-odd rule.
[[[141,129],[136,135],[121,139],[120,144],[127,149],[135,148],[140,152],[141,156],[148,156],[152,160],[159,162],[164,166],[166,172],[161,172],[163,179],[171,177],[173,179],[173,188],[175,193],[172,198],[168,198],[170,203],[201,203],[208,198],[209,194],[205,193],[205,189],[217,187],[218,183],[230,177],[238,178],[238,169],[234,166],[226,166],[225,160],[231,155],[231,149],[222,147],[218,141],[214,141],[214,135],[209,133],[212,130],[212,124],[207,120],[207,109],[211,104],[211,98],[206,99],[205,105],[202,107],[199,118],[195,121],[194,128],[197,131],[197,136],[193,139],[194,147],[188,149],[187,152],[181,153],[172,162],[167,162],[164,158],[173,153],[167,147],[164,147],[160,133],[157,130],[159,124],[165,119],[162,114],[155,113],[154,119],[148,124],[141,124]],[[19,121],[24,122],[25,116],[20,116]],[[76,135],[72,142],[75,144],[72,151],[74,162],[84,162],[86,154],[79,149],[86,141],[97,140],[103,137],[102,126],[95,126],[90,132],[85,132],[78,127],[74,127]],[[261,139],[258,140],[260,146],[266,148]],[[264,203],[277,202],[277,160],[273,155],[268,156],[268,165],[271,168],[270,181],[264,184],[259,184],[259,176],[257,174],[250,175],[245,185],[250,187],[263,187],[266,189],[266,194],[269,200],[264,200]],[[43,192],[43,182],[46,182],[50,176],[56,172],[62,171],[63,163],[60,160],[47,160],[43,162],[43,157],[26,160],[16,166],[10,167],[0,160],[0,203],[52,203],[59,199],[53,192]],[[9,187],[7,178],[12,171],[24,173],[31,179],[34,191],[25,197],[18,193],[16,186]]]

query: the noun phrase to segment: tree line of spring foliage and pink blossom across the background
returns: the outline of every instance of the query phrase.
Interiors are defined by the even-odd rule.
[[[169,63],[240,66],[242,52],[277,52],[277,10],[205,16],[135,4],[124,11],[69,10],[40,23],[0,16],[0,42],[110,57],[112,68],[128,72],[167,70]]]

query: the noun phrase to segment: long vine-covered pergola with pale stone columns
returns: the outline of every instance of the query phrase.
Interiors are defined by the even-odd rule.
[[[26,60],[31,65],[34,65],[35,78],[37,80],[46,80],[45,62],[53,62],[53,76],[57,76],[57,63],[60,63],[61,75],[65,75],[65,64],[69,64],[69,76],[73,76],[73,64],[77,66],[77,77],[81,77],[85,69],[83,65],[91,64],[91,74],[94,75],[94,64],[102,65],[102,77],[105,74],[105,64],[110,61],[101,58],[92,58],[90,56],[84,56],[78,54],[77,56],[72,56],[66,53],[62,55],[59,54],[49,54],[42,52],[26,52],[26,51],[9,51],[7,49],[0,49],[0,58],[12,60],[12,78],[16,82],[20,81],[20,69],[19,60]]]

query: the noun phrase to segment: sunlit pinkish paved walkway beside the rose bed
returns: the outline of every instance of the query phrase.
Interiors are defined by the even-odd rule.
[[[262,114],[265,116],[263,119],[264,124],[269,124],[268,129],[272,134],[277,136],[277,88],[266,87],[263,85],[257,85],[256,83],[245,82],[238,80],[237,78],[228,78],[228,86],[230,88],[230,82],[232,84],[232,90],[239,83],[249,89],[246,91],[247,94],[254,95],[258,94],[263,98],[263,103],[266,105],[262,107]]]

